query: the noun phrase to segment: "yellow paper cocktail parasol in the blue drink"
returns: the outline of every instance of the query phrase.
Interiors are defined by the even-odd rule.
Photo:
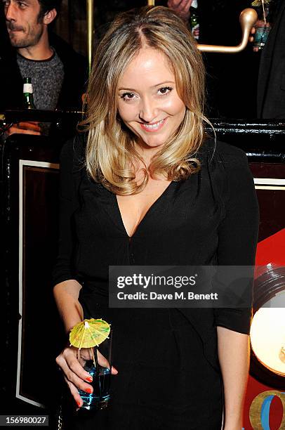
[[[101,318],[95,320],[84,320],[77,325],[74,325],[69,334],[69,341],[72,346],[77,348],[92,348],[99,346],[102,341],[108,339],[110,334],[110,324]]]

